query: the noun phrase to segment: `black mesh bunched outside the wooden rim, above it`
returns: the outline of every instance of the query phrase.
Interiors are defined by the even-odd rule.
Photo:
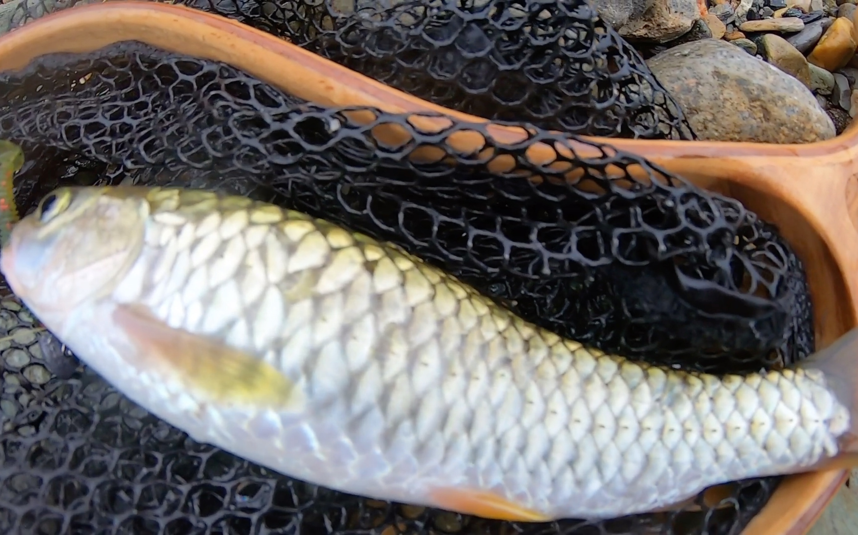
[[[0,27],[86,0],[14,0]],[[421,99],[582,135],[694,139],[634,48],[583,0],[173,0]],[[3,8],[0,8],[0,14]]]

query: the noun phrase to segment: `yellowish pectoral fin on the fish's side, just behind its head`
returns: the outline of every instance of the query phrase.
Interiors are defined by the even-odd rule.
[[[274,366],[221,340],[172,328],[140,306],[119,305],[113,321],[140,348],[142,368],[163,366],[178,379],[217,403],[288,408],[300,400]]]

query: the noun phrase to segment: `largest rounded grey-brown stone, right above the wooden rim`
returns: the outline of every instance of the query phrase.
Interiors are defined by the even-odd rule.
[[[735,42],[693,41],[647,61],[699,139],[809,143],[834,137],[834,123],[801,81],[748,57]]]

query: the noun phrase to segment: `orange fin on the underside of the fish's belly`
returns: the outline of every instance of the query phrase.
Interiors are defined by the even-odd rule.
[[[487,490],[438,488],[430,493],[439,508],[455,513],[473,514],[489,520],[548,522],[553,518],[529,508],[523,508]]]

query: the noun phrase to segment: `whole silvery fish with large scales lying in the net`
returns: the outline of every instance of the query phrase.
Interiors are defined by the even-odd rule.
[[[352,495],[603,520],[858,464],[858,328],[781,370],[634,362],[394,244],[201,189],[55,189],[15,225],[0,271],[139,406]]]

